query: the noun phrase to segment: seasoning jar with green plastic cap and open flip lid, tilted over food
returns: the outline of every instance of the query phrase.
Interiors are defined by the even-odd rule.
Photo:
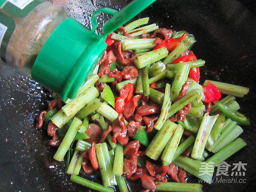
[[[101,8],[87,29],[60,6],[44,0],[0,0],[0,56],[7,64],[31,72],[41,85],[61,96],[74,98],[90,76],[107,44],[108,34],[135,17],[155,0],[133,0],[121,11]],[[94,31],[97,15],[113,15]]]

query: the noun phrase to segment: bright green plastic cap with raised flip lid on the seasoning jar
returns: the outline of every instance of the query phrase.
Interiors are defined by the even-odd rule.
[[[73,18],[65,19],[52,32],[39,52],[32,67],[32,78],[60,94],[64,101],[74,98],[105,51],[107,35],[154,1],[156,0],[134,0],[119,12],[110,8],[98,9],[92,16],[91,30]],[[103,26],[103,35],[94,32],[99,12],[113,15]]]

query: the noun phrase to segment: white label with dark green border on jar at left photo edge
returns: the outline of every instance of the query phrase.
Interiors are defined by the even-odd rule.
[[[12,17],[0,12],[0,57],[4,62],[6,62],[6,49],[15,26],[15,20]]]

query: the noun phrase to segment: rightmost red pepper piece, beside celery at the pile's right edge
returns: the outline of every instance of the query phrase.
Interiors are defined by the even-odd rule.
[[[218,101],[221,99],[221,93],[218,90],[217,87],[215,87],[215,85],[211,84],[210,81],[208,81],[207,86],[204,87],[204,96],[205,99],[203,102],[209,103],[209,102],[213,102],[213,101]]]

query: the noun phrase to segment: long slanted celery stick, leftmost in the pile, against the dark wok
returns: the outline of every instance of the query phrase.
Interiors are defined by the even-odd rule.
[[[55,160],[62,161],[64,159],[64,156],[67,153],[67,150],[70,148],[70,145],[73,142],[81,124],[82,121],[80,119],[76,117],[73,119],[70,128],[68,128],[67,133],[61,142],[61,145],[58,147],[58,150],[53,156]]]

